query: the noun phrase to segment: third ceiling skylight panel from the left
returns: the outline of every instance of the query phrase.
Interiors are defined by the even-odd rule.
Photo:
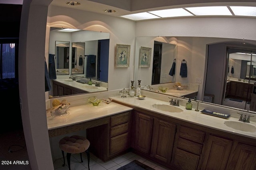
[[[196,16],[232,16],[230,10],[226,6],[188,7],[186,10],[192,12]]]

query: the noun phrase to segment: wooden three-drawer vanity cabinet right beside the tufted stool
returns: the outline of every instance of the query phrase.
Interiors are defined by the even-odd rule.
[[[86,129],[90,152],[103,161],[130,149],[131,111],[107,117],[108,123]]]

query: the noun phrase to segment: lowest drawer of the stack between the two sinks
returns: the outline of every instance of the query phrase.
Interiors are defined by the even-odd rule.
[[[182,170],[196,170],[199,161],[199,156],[177,149],[174,157],[174,165]]]

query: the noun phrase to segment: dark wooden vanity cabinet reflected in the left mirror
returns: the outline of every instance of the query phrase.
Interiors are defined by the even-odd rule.
[[[66,96],[71,94],[87,93],[84,90],[53,81],[53,96]]]

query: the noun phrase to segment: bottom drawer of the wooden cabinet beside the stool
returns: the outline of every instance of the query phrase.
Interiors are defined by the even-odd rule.
[[[128,149],[128,133],[110,139],[110,155]]]

